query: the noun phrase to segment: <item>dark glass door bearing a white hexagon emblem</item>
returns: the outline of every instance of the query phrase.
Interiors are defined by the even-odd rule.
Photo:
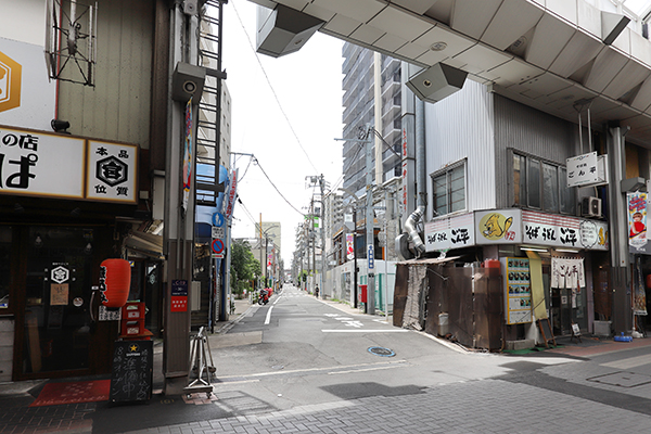
[[[89,368],[92,230],[30,227],[23,374]]]

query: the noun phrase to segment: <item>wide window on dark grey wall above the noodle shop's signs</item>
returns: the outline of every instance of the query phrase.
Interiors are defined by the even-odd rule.
[[[567,170],[539,158],[513,154],[513,204],[548,213],[575,214]]]

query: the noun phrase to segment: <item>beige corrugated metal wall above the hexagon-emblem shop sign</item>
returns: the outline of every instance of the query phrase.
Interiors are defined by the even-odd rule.
[[[60,82],[59,118],[74,135],[149,149],[154,2],[102,0],[95,87]]]

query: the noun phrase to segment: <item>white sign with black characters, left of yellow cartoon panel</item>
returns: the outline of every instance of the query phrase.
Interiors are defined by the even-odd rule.
[[[474,215],[470,213],[426,222],[424,244],[426,252],[475,245]]]

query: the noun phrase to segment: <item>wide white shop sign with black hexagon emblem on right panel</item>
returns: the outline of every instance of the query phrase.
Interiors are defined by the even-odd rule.
[[[137,166],[133,144],[0,126],[0,194],[136,203]]]

